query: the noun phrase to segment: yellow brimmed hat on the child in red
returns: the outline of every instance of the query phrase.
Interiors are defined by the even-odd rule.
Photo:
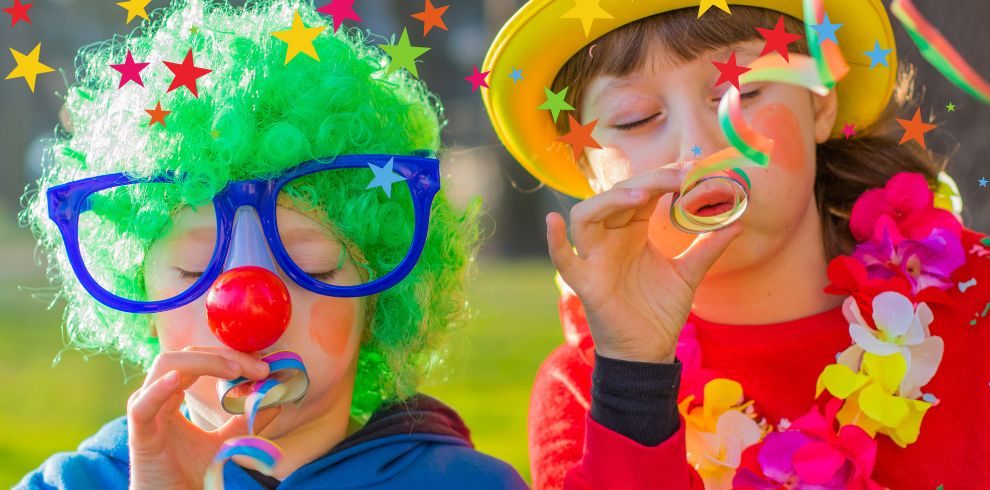
[[[730,10],[733,5],[763,7],[797,19],[804,18],[801,4],[801,0],[728,1]],[[609,31],[654,14],[698,7],[699,0],[530,0],[523,5],[495,37],[483,68],[491,74],[482,99],[509,153],[548,186],[574,197],[589,197],[591,187],[570,148],[556,141],[559,135],[550,113],[537,109],[547,100],[544,88],[552,86],[567,60]],[[825,11],[830,22],[842,24],[836,37],[850,66],[836,89],[839,114],[833,136],[837,136],[844,123],[863,128],[880,116],[896,83],[897,51],[880,0],[826,0]],[[889,67],[870,69],[866,52],[876,42],[892,50]],[[521,79],[517,82],[514,75]]]

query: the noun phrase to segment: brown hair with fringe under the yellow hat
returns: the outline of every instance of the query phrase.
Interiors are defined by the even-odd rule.
[[[576,119],[581,120],[581,99],[596,76],[632,74],[643,69],[654,54],[664,56],[665,61],[684,63],[723,46],[761,40],[756,27],[772,29],[780,15],[759,7],[733,6],[732,15],[712,9],[698,19],[697,9],[691,8],[646,17],[595,40],[598,56],[588,56],[587,50],[574,55],[557,73],[553,90],[570,87],[567,102],[577,108]],[[784,15],[784,25],[788,32],[804,33],[804,23],[798,19]],[[654,46],[666,49],[654,53]],[[791,51],[808,54],[807,41],[802,38],[795,42]],[[868,128],[857,128],[851,139],[834,138],[818,145],[815,201],[829,259],[855,247],[849,214],[864,191],[883,187],[898,172],[921,173],[934,189],[938,172],[944,167],[944,162],[936,163],[932,154],[917,145],[900,145],[898,136],[892,133],[900,127],[894,116],[913,105],[913,71],[902,71],[900,75],[894,98],[877,122]],[[559,118],[556,123],[561,134],[570,131],[569,125],[567,118]],[[584,159],[579,165],[590,175]]]

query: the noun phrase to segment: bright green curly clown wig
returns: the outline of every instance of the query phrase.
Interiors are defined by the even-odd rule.
[[[313,42],[320,61],[300,54],[286,64],[287,44],[271,33],[288,29],[295,12],[307,27],[329,27]],[[196,66],[213,70],[197,80],[198,97],[186,88],[168,91],[173,75],[162,64],[181,61],[190,49]],[[150,63],[141,72],[143,87],[118,87],[120,74],[108,66],[122,63],[128,51]],[[208,204],[232,180],[271,178],[337,155],[438,150],[439,102],[405,70],[387,73],[387,64],[364,34],[346,27],[334,33],[331,19],[306,0],[256,1],[243,8],[179,0],[152,13],[131,35],[80,50],[78,83],[65,101],[71,128],[56,130],[44,175],[26,194],[21,212],[67,303],[69,345],[119,356],[142,369],[160,349],[151,335],[151,315],[108,308],[76,279],[47,217],[49,187],[114,172],[152,177],[171,171],[178,177],[169,192],[109,192],[91,199],[88,214],[97,218],[88,238],[104,245],[90,251],[87,269],[101,284],[110,281],[141,297],[145,256],[175,212]],[[172,111],[166,126],[149,125],[145,109],[158,102]],[[384,192],[357,194],[342,190],[340,182],[308,179],[291,194],[331,224],[361,216],[361,226],[336,231],[349,249],[357,249],[355,260],[371,276],[388,272],[405,255],[396,237],[411,234],[412,210],[397,207]],[[457,210],[438,194],[422,258],[408,277],[371,302],[353,415],[366,418],[384,402],[411,396],[440,363],[446,334],[466,314],[463,283],[476,250],[478,208],[475,200]]]

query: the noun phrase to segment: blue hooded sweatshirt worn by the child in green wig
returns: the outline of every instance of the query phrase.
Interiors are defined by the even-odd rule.
[[[126,489],[129,477],[127,418],[119,417],[58,453],[15,489]],[[379,410],[359,431],[285,480],[224,466],[229,489],[525,489],[508,464],[474,450],[452,409],[427,396]]]

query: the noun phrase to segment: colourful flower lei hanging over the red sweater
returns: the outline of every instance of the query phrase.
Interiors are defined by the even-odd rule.
[[[818,378],[816,398],[831,395],[824,410],[816,404],[772,427],[745,401],[738,382],[701,367],[693,326],[681,334],[677,355],[687,396],[679,409],[688,461],[706,488],[882,488],[871,477],[876,435],[906,447],[938,405],[922,392],[944,350],[942,338],[929,331],[929,305],[949,305],[949,289],[965,292],[975,284],[952,277],[966,261],[959,219],[935,206],[924,177],[901,173],[860,196],[850,230],[859,244],[829,264],[825,291],[848,296],[842,311],[852,345]]]

